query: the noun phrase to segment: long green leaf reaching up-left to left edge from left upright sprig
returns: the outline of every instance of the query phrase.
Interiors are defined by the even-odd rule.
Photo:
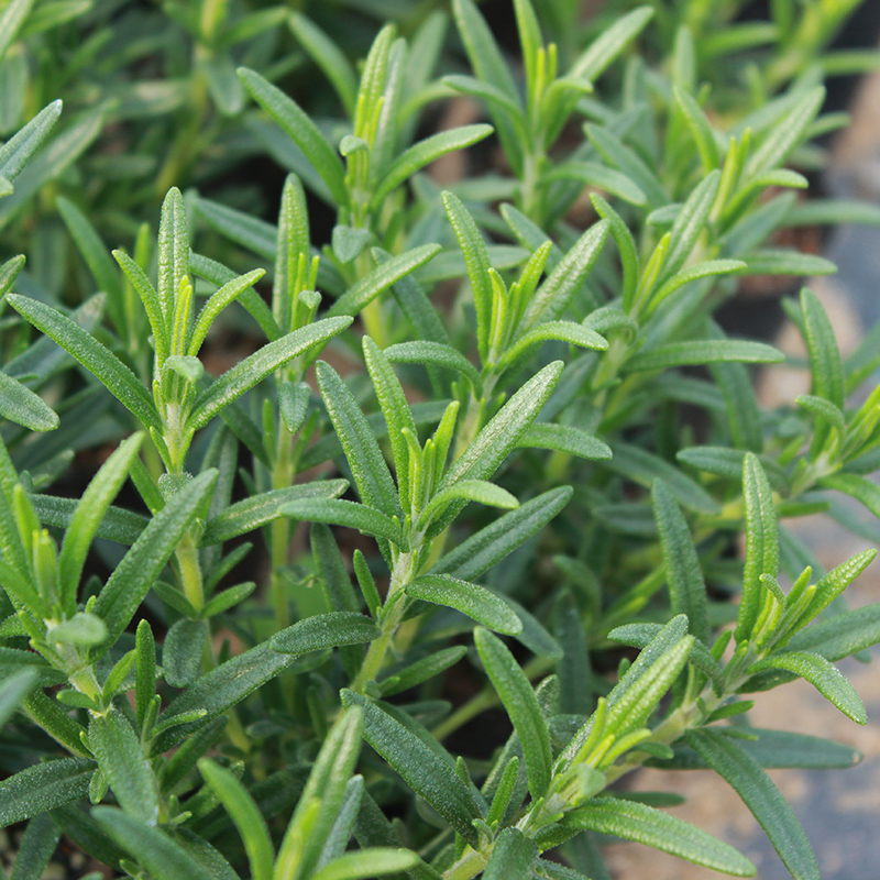
[[[76,358],[145,426],[157,430],[161,428],[162,422],[150,393],[134,373],[95,337],[59,311],[35,299],[9,294],[7,300],[37,330]]]

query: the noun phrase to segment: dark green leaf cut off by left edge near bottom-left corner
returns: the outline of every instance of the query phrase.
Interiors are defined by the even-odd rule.
[[[0,782],[0,826],[85,798],[95,772],[90,758],[61,758],[21,770]]]

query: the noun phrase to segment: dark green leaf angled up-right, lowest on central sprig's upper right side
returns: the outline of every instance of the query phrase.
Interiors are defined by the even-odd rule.
[[[449,551],[431,570],[473,580],[537,535],[569,503],[570,486],[558,486],[521,504]]]

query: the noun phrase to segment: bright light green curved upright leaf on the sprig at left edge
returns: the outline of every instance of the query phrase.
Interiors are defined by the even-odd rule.
[[[110,503],[125,482],[142,441],[143,435],[135,433],[120,443],[89,483],[70,517],[70,525],[64,536],[58,558],[62,604],[68,614],[73,614],[76,609],[79,578],[82,574],[82,565],[86,562],[92,538],[98,532]]]

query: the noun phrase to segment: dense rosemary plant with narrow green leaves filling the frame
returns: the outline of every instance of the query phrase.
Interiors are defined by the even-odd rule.
[[[301,13],[170,4],[204,113],[166,139],[155,242],[150,199],[122,187],[131,253],[105,244],[112,215],[56,202],[99,293],[70,308],[64,283],[41,286],[48,270],[0,266],[0,820],[28,821],[18,880],[62,834],[154,880],[597,880],[596,835],[754,875],[658,809],[674,793],[612,788],[646,763],[715,769],[792,877],[818,878],[765,768],[858,755],[752,727],[741,695],[803,678],[867,722],[833,663],[880,641],[880,605],[840,598],[875,551],[825,573],[779,520],[827,512],[877,541],[838,497],[880,516],[866,476],[880,389],[848,405],[880,366],[880,331],[844,361],[804,289],[787,307],[811,393],[762,413],[746,365],[783,355],[713,315],[743,276],[834,271],[779,230],[877,222],[789,191],[820,158],[812,139],[843,124],[822,113],[834,56],[815,35],[851,3],[774,3],[763,30],[714,41],[740,4],[609,3],[595,38],[578,6],[543,3],[542,30],[514,1],[521,69],[454,0],[464,56],[437,13],[409,38],[383,28],[359,72]],[[13,0],[0,45],[31,35],[31,51],[44,20],[79,14],[50,7]],[[112,38],[111,8],[82,69]],[[271,81],[290,66],[265,66],[282,19],[330,80],[330,123]],[[749,66],[760,46],[771,59]],[[464,57],[468,74],[446,73]],[[251,59],[262,73],[234,70]],[[254,148],[206,89],[287,157],[276,223],[168,186]],[[462,94],[491,124],[419,139],[426,109]],[[0,148],[16,209],[78,155],[69,129],[50,140],[61,109]],[[165,122],[142,117],[151,151]],[[444,191],[424,173],[491,138],[504,173]],[[333,218],[327,241],[311,197]],[[264,342],[211,377],[232,314]],[[53,494],[75,452],[101,446],[80,496]],[[256,531],[260,547],[242,540]],[[239,582],[245,561],[260,575]],[[443,698],[451,676],[473,695]],[[495,705],[506,741],[480,724]],[[443,741],[465,725],[455,758]]]

